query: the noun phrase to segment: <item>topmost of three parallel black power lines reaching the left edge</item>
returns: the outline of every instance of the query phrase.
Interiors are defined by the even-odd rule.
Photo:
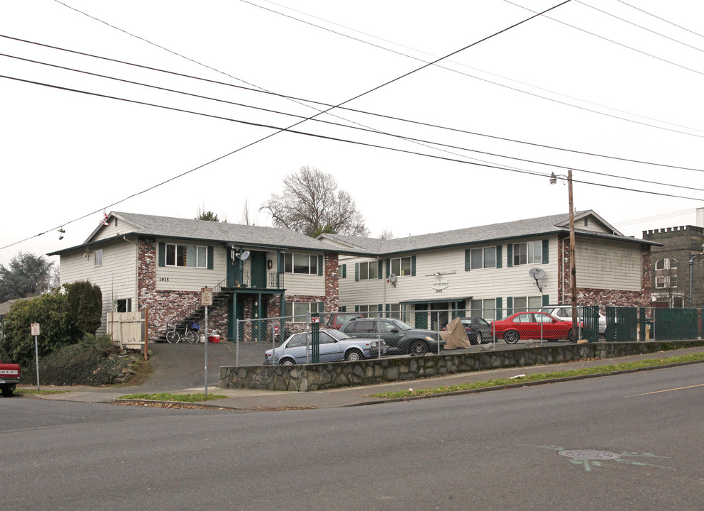
[[[134,63],[134,62],[127,62],[127,61],[124,61],[124,60],[116,60],[116,59],[113,59],[113,58],[110,58],[110,57],[103,57],[103,56],[101,56],[101,55],[93,55],[93,54],[91,54],[91,53],[79,52],[79,51],[77,51],[77,50],[69,50],[69,49],[67,49],[67,48],[60,48],[60,47],[58,47],[58,46],[47,45],[47,44],[45,44],[45,43],[37,43],[37,42],[31,41],[31,40],[25,40],[25,39],[20,39],[20,38],[14,38],[14,37],[11,37],[10,35],[3,35],[3,34],[0,34],[0,38],[6,38],[6,39],[10,39],[10,40],[16,40],[16,41],[21,42],[21,43],[28,43],[28,44],[31,44],[31,45],[38,45],[38,46],[42,46],[42,47],[44,47],[44,48],[50,48],[50,49],[53,49],[53,50],[65,51],[65,52],[67,52],[67,53],[75,53],[76,55],[83,55],[83,56],[85,56],[85,57],[92,57],[92,58],[97,58],[97,59],[100,59],[100,60],[107,60],[107,61],[109,61],[109,62],[116,62],[116,63],[118,63],[118,64],[128,65],[128,66],[132,66],[132,67],[138,67],[138,68],[145,69],[145,70],[156,71],[156,72],[163,72],[163,73],[168,74],[168,75],[174,75],[174,76],[178,76],[178,77],[185,77],[185,78],[190,78],[190,79],[196,79],[196,80],[200,80],[200,81],[202,81],[202,82],[209,82],[209,83],[212,83],[212,84],[224,85],[224,86],[226,86],[226,87],[233,87],[233,88],[236,88],[236,89],[243,89],[243,90],[246,90],[246,91],[249,91],[249,92],[256,92],[256,93],[258,93],[258,94],[268,94],[268,95],[271,95],[271,96],[274,96],[274,97],[281,97],[281,98],[284,98],[284,99],[293,99],[293,100],[295,100],[295,101],[305,101],[305,102],[307,102],[307,103],[318,104],[318,105],[320,105],[320,106],[336,107],[337,109],[341,109],[341,110],[345,110],[345,111],[351,111],[351,112],[355,112],[355,113],[357,113],[357,114],[364,114],[364,115],[369,115],[369,116],[380,117],[380,118],[382,118],[382,119],[389,119],[389,120],[392,120],[392,121],[400,121],[400,122],[405,122],[405,123],[417,124],[418,126],[426,126],[426,127],[429,127],[429,128],[438,128],[438,129],[443,129],[443,130],[447,130],[447,131],[454,131],[454,132],[456,132],[456,133],[464,133],[464,134],[467,134],[467,135],[480,136],[480,137],[485,137],[485,138],[492,138],[492,139],[494,139],[494,140],[499,140],[499,141],[505,141],[505,142],[511,142],[511,143],[519,143],[519,144],[522,144],[522,145],[530,145],[530,146],[532,146],[532,147],[537,147],[537,148],[544,148],[544,149],[550,149],[550,150],[559,150],[559,151],[563,151],[563,152],[566,152],[566,153],[574,153],[574,154],[592,156],[592,157],[594,157],[594,158],[607,158],[607,159],[610,159],[610,160],[623,161],[623,162],[627,162],[627,163],[638,163],[638,164],[640,164],[640,165],[653,165],[653,166],[658,166],[658,167],[667,167],[667,168],[673,168],[673,169],[679,169],[679,170],[692,170],[692,171],[694,171],[694,172],[704,172],[703,169],[698,169],[698,168],[695,168],[695,167],[683,167],[683,166],[680,166],[680,165],[669,165],[669,164],[666,164],[666,163],[654,163],[654,162],[648,162],[648,161],[645,161],[645,160],[635,160],[635,159],[633,159],[633,158],[620,158],[620,157],[618,157],[618,156],[610,156],[610,155],[604,155],[604,154],[600,154],[600,153],[591,153],[591,152],[588,152],[588,151],[581,151],[581,150],[576,150],[576,149],[560,148],[560,147],[557,147],[557,146],[554,146],[554,145],[547,145],[547,144],[533,143],[533,142],[527,142],[527,141],[520,141],[520,140],[517,140],[517,139],[515,139],[515,138],[507,138],[507,137],[500,137],[500,136],[495,136],[495,135],[488,135],[487,133],[479,133],[479,132],[477,132],[477,131],[468,131],[468,130],[463,130],[463,129],[461,129],[461,128],[451,128],[451,127],[448,127],[448,126],[440,126],[440,125],[438,125],[438,124],[433,124],[433,123],[426,123],[426,122],[421,122],[421,121],[413,121],[412,119],[404,119],[404,118],[402,118],[402,117],[397,117],[397,116],[388,116],[388,115],[384,115],[384,114],[377,114],[377,113],[375,113],[375,112],[370,112],[370,111],[365,111],[365,110],[359,110],[359,109],[353,109],[353,108],[350,108],[350,107],[347,107],[347,106],[335,106],[335,105],[333,105],[333,104],[323,103],[323,102],[321,102],[321,101],[315,101],[315,100],[313,100],[313,99],[299,98],[299,97],[295,97],[295,96],[287,96],[287,95],[285,95],[285,94],[277,94],[277,93],[275,93],[275,92],[270,92],[270,91],[267,91],[267,90],[265,90],[265,89],[261,89],[260,87],[258,87],[257,89],[251,89],[250,87],[243,87],[242,85],[231,84],[231,83],[228,83],[228,82],[219,82],[218,80],[213,80],[213,79],[208,79],[208,78],[202,78],[202,77],[197,77],[197,76],[193,76],[193,75],[185,75],[185,74],[180,73],[180,72],[175,72],[175,71],[170,71],[170,70],[163,70],[163,69],[160,69],[160,68],[158,68],[158,67],[150,67],[150,66],[140,65],[140,64],[136,64],[136,63]],[[8,56],[12,57],[11,55],[8,55]],[[16,57],[13,57],[13,58],[16,58]],[[241,104],[241,106],[246,106],[246,105]],[[255,107],[251,107],[251,108],[255,108]],[[328,114],[329,114],[329,115],[332,115],[332,114],[330,114],[329,112],[328,112]],[[343,119],[343,118],[340,118],[340,119]],[[347,120],[347,119],[344,119],[344,120]],[[352,122],[352,121],[348,121],[348,122]],[[694,134],[692,134],[692,133],[686,133],[686,134],[691,134],[691,136],[698,136],[698,135],[694,135]],[[700,136],[698,136],[698,137],[700,137]],[[704,137],[700,137],[700,138],[704,138]]]

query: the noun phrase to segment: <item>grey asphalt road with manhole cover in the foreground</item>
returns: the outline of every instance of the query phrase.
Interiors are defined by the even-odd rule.
[[[700,364],[289,412],[2,400],[12,510],[700,510]]]

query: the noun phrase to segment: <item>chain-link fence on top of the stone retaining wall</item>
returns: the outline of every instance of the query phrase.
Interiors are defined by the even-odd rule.
[[[568,306],[541,307],[537,310],[504,307],[325,312],[304,316],[241,319],[236,322],[236,366],[419,356],[442,353],[446,347],[478,350],[486,344],[493,344],[493,348],[511,348],[578,340],[626,342],[698,339],[702,312],[698,309],[593,305],[578,307],[576,315],[576,327],[572,323],[572,308]],[[451,325],[453,320],[457,322]],[[461,327],[465,331],[468,342],[463,343],[461,348],[446,344],[449,332],[444,332],[448,331],[449,326],[451,329]],[[325,334],[325,331],[329,332]],[[345,335],[339,336],[338,331]],[[295,334],[303,335],[293,339]],[[347,336],[372,342],[358,346],[354,341],[346,340]],[[285,356],[286,353],[293,352],[285,353],[286,349],[281,348],[289,338],[293,342],[285,348],[299,348],[297,355]],[[374,340],[380,342],[373,345]],[[269,356],[267,351],[270,351]]]

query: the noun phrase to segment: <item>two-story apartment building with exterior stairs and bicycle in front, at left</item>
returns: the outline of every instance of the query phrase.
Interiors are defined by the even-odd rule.
[[[215,290],[209,326],[233,339],[236,319],[296,316],[338,307],[338,253],[272,227],[112,212],[79,246],[60,255],[60,282],[90,280],[108,312],[148,308],[149,339]]]

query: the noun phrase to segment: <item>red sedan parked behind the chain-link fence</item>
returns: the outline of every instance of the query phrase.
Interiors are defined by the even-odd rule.
[[[582,326],[579,323],[579,327]],[[574,342],[579,336],[578,331],[572,330],[571,321],[562,321],[545,312],[517,312],[492,322],[491,330],[496,339],[503,337],[508,344],[515,344],[518,339],[568,339]]]

